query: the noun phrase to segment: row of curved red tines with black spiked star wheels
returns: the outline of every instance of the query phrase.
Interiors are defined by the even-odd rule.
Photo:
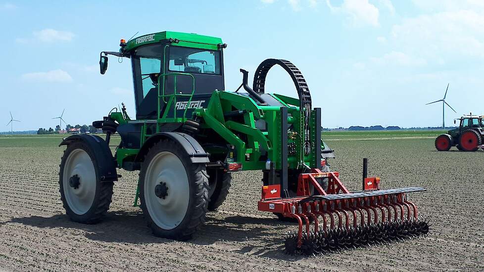
[[[422,237],[430,227],[403,193],[294,202],[287,216],[299,222],[299,229],[288,233],[285,252],[308,256]],[[314,227],[310,227],[311,221]]]

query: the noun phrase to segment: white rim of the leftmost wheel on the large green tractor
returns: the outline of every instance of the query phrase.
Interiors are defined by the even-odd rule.
[[[72,187],[69,180],[77,175],[79,186]],[[91,209],[96,196],[96,170],[89,154],[83,149],[74,149],[64,164],[62,186],[69,208],[78,215]]]

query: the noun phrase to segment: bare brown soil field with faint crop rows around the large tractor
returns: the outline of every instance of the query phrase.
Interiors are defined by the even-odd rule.
[[[383,188],[427,188],[410,200],[431,220],[430,236],[307,258],[282,252],[293,224],[257,212],[259,172],[234,174],[219,211],[179,242],[153,237],[132,206],[137,172],[118,172],[103,222],[73,223],[58,192],[60,137],[0,136],[0,271],[483,271],[484,152],[437,152],[435,138],[415,137],[338,134],[326,142],[351,190],[360,189],[364,157]]]

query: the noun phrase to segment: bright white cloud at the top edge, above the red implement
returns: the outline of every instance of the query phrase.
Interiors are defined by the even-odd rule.
[[[330,0],[326,4],[333,13],[342,13],[351,20],[353,26],[379,26],[379,10],[368,0],[343,0],[341,6],[333,6]]]

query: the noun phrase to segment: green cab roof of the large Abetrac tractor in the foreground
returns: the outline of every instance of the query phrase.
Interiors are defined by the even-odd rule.
[[[126,51],[131,51],[142,45],[149,45],[159,43],[163,40],[178,40],[179,46],[203,48],[217,50],[218,45],[222,44],[222,39],[204,35],[198,35],[195,33],[182,33],[173,31],[163,31],[158,33],[152,33],[143,35],[134,39],[131,39],[126,43]]]

